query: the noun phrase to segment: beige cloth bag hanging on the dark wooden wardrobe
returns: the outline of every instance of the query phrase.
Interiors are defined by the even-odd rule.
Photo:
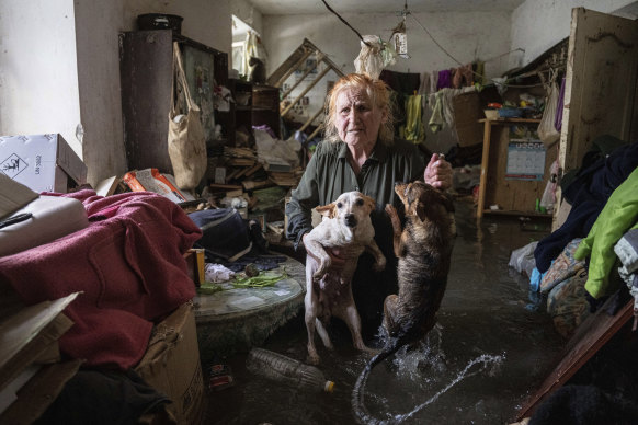
[[[179,112],[178,90],[186,102],[185,114]],[[193,102],[178,43],[173,43],[173,89],[169,113],[169,158],[175,183],[180,188],[193,189],[206,172],[206,139],[200,118],[200,107]]]

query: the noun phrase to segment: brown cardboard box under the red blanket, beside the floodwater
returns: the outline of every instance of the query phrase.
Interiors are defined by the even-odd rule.
[[[201,424],[204,416],[204,379],[195,313],[184,303],[159,323],[135,371],[151,387],[167,394],[167,410],[179,424]]]

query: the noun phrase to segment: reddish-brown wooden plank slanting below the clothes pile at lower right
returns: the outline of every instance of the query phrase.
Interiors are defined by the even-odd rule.
[[[551,392],[562,387],[634,315],[634,299],[615,315],[608,315],[605,311],[609,302],[613,302],[613,297],[578,328],[568,343],[567,354],[545,379],[539,390],[521,409],[517,421],[532,416]]]

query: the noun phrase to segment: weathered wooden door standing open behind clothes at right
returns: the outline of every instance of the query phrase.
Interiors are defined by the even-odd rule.
[[[559,174],[579,169],[599,136],[638,139],[638,23],[572,9],[565,82]]]

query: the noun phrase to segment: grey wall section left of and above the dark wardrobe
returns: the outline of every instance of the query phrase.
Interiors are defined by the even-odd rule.
[[[127,171],[119,93],[118,34],[137,30],[137,15],[143,13],[183,16],[183,35],[221,51],[230,49],[227,1],[76,0],[84,162],[91,184]]]

